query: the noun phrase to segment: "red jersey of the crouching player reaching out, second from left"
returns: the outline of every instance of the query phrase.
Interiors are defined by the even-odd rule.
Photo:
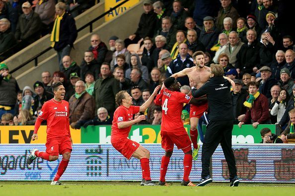
[[[133,114],[138,113],[139,110],[140,106],[134,105],[131,105],[129,108],[120,105],[116,109],[112,122],[111,143],[120,142],[122,139],[125,139],[129,136],[131,126],[119,129],[118,123],[133,120]]]

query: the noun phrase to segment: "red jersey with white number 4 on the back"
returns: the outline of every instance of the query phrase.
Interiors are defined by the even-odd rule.
[[[178,132],[185,130],[181,120],[181,112],[183,103],[189,103],[190,100],[190,96],[168,89],[157,95],[154,102],[162,105],[161,131]]]

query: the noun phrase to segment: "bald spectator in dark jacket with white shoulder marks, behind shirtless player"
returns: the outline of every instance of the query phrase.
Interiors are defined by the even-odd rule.
[[[185,68],[190,68],[195,66],[193,58],[188,54],[187,45],[180,44],[179,45],[179,54],[176,59],[174,59],[169,67],[166,70],[166,77],[170,77],[171,75],[180,72]],[[177,78],[178,82],[183,85],[190,84],[188,76]]]

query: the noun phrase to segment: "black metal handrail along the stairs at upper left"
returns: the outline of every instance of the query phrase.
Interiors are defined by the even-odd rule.
[[[113,8],[110,8],[109,10],[107,10],[106,12],[104,12],[103,14],[99,15],[98,17],[94,18],[93,20],[91,20],[90,22],[86,23],[85,25],[83,25],[82,27],[77,29],[77,32],[80,32],[81,30],[85,29],[86,27],[89,26],[89,33],[92,33],[93,30],[93,23],[96,22],[97,20],[99,20],[100,18],[104,17],[105,15],[107,15],[109,12],[117,9],[118,7],[120,7],[121,5],[125,4],[126,2],[128,2],[129,0],[123,0],[121,3],[117,4],[116,6],[114,6]],[[48,47],[47,49],[44,49],[43,51],[39,52],[38,54],[36,54],[35,56],[31,57],[30,59],[26,60],[25,62],[23,62],[22,64],[20,64],[19,66],[17,66],[16,68],[12,69],[11,71],[9,71],[9,73],[13,73],[15,71],[17,71],[18,69],[24,67],[25,65],[27,65],[28,63],[35,61],[35,66],[38,66],[38,57],[43,55],[44,53],[48,52],[49,50],[51,50],[53,48]]]

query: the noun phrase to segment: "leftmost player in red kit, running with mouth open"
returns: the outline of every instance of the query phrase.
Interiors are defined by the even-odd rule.
[[[73,141],[70,132],[69,102],[63,100],[66,93],[65,87],[61,82],[57,82],[52,85],[52,91],[54,98],[45,102],[42,106],[32,136],[33,141],[38,140],[37,132],[41,122],[47,120],[46,151],[40,152],[34,148],[28,157],[27,163],[31,164],[37,157],[55,161],[59,158],[59,154],[62,154],[63,159],[59,164],[54,180],[51,182],[51,185],[61,185],[59,179],[68,166]]]

